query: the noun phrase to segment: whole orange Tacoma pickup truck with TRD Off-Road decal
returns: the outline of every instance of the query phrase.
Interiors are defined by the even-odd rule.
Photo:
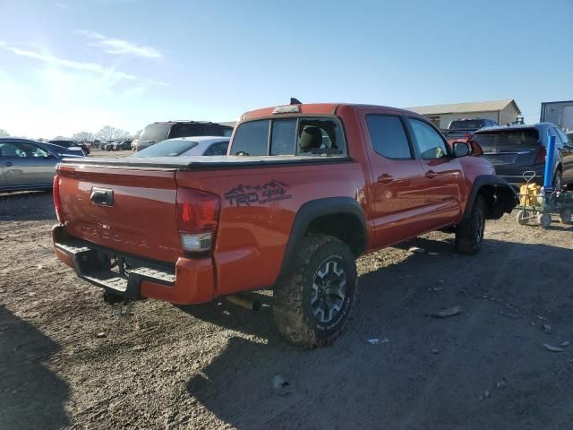
[[[485,219],[517,204],[492,165],[393,107],[248,112],[227,157],[65,159],[58,258],[108,300],[198,304],[273,288],[287,340],[332,342],[355,300],[355,258],[435,230],[475,254]]]

